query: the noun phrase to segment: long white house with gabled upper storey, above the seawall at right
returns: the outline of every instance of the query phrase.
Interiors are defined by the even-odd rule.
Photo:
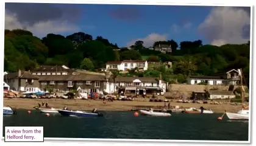
[[[187,77],[187,84],[189,85],[196,85],[201,82],[207,83],[208,85],[237,85],[240,83],[240,77],[239,72],[235,69],[215,74],[215,76]]]

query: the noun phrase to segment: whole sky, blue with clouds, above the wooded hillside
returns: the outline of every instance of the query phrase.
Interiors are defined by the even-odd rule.
[[[85,32],[103,36],[119,47],[137,40],[202,40],[203,44],[246,43],[250,36],[250,7],[179,5],[100,5],[5,3],[5,29],[48,33]]]

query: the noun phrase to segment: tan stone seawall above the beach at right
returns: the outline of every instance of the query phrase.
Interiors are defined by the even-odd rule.
[[[235,86],[236,88],[238,86]],[[169,84],[168,92],[165,93],[167,99],[180,99],[182,96],[188,99],[192,96],[193,91],[208,91],[208,90],[218,90],[218,91],[228,91],[229,86],[224,85],[183,85],[183,84]]]

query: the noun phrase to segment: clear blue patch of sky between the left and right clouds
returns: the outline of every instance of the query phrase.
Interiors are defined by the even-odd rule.
[[[177,42],[200,39],[209,43],[199,35],[197,27],[212,7],[85,4],[79,7],[84,14],[79,20],[81,31],[94,37],[101,35],[118,46],[126,46],[127,42],[151,33],[166,35],[168,40]],[[187,27],[183,28],[184,25]]]

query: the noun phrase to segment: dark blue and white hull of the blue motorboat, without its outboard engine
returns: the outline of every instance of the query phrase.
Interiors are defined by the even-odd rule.
[[[76,117],[98,117],[102,116],[98,113],[85,113],[77,111],[68,111],[68,110],[57,110],[62,116],[76,116]]]

